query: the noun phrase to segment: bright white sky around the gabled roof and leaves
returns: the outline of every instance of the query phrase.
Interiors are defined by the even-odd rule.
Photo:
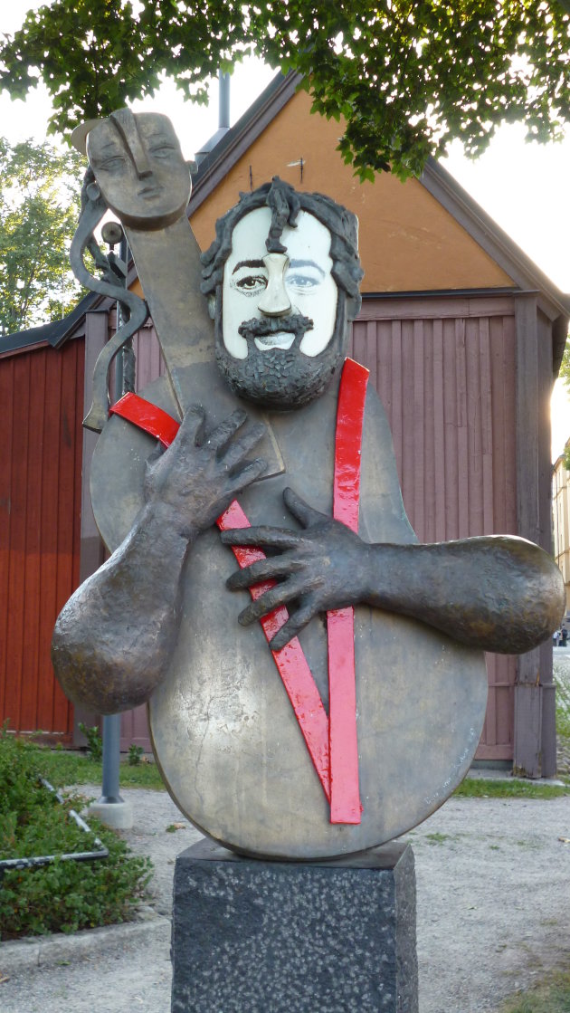
[[[26,10],[45,0],[4,0],[0,35],[16,30]],[[238,65],[231,84],[231,123],[234,124],[274,75],[260,61]],[[191,158],[218,127],[218,82],[210,88],[208,107],[183,101],[171,81],[165,81],[153,99],[135,102],[134,109],[166,112],[172,120],[182,150]],[[46,138],[51,105],[42,88],[25,101],[0,94],[0,134],[12,144],[26,138]],[[51,139],[52,142],[54,139]],[[570,128],[558,144],[527,144],[524,128],[501,128],[489,149],[476,161],[455,142],[442,164],[518,246],[562,292],[570,293]],[[553,460],[570,438],[570,397],[560,381],[552,402]]]

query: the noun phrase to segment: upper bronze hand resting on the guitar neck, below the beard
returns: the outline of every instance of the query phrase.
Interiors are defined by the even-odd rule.
[[[205,436],[202,408],[189,408],[174,442],[147,462],[147,502],[168,509],[169,521],[180,534],[205,531],[235,495],[263,473],[262,458],[247,454],[263,436],[263,425],[239,433],[247,418],[241,408]]]

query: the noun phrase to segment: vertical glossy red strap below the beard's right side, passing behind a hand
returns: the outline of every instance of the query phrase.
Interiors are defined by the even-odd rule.
[[[358,530],[360,454],[369,371],[347,359],[336,416],[333,517]],[[329,657],[330,822],[359,824],[354,610],[327,613]]]

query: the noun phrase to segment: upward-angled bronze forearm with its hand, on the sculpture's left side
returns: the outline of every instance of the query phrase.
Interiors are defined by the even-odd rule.
[[[54,670],[75,703],[117,713],[148,700],[164,677],[186,555],[199,532],[264,469],[260,459],[245,460],[262,427],[235,436],[245,417],[235,411],[203,440],[203,413],[190,410],[172,446],[149,462],[147,502],[130,534],[56,624]]]

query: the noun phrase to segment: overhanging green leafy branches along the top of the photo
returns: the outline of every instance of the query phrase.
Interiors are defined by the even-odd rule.
[[[0,47],[0,86],[23,97],[40,77],[67,133],[163,73],[206,101],[246,53],[303,75],[364,178],[418,173],[453,138],[478,155],[504,121],[546,141],[570,120],[567,0],[53,0]]]

